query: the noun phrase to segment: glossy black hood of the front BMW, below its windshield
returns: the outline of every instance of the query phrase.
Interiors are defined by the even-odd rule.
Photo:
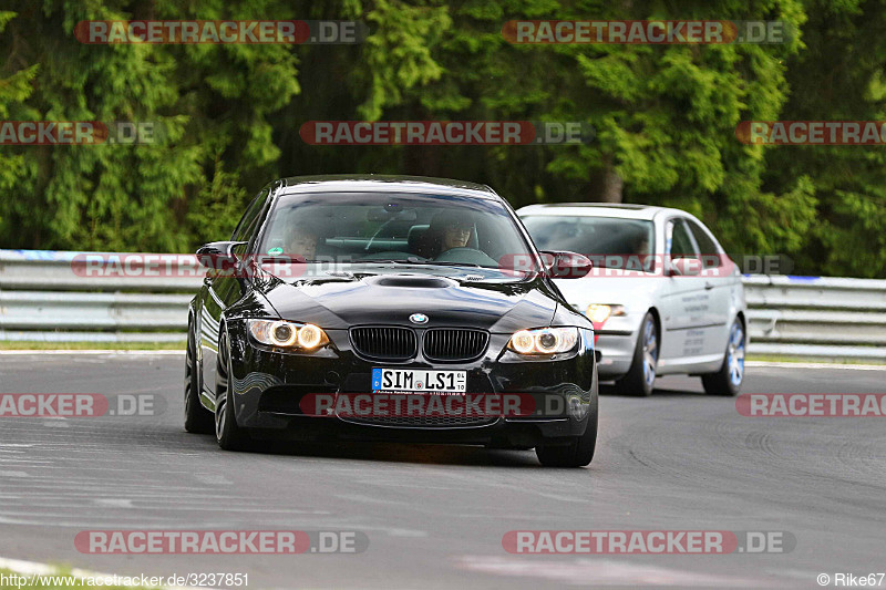
[[[282,319],[324,329],[352,325],[471,327],[494,333],[549,325],[556,294],[539,276],[523,280],[465,280],[427,273],[340,273],[286,282],[265,275],[257,287]]]

